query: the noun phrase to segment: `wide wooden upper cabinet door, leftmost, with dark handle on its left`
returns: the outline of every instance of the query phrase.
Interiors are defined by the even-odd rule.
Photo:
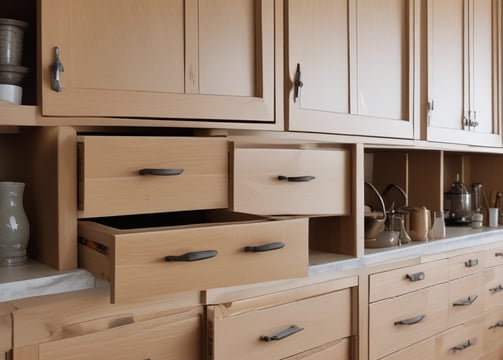
[[[42,114],[273,123],[274,16],[274,0],[44,0]]]

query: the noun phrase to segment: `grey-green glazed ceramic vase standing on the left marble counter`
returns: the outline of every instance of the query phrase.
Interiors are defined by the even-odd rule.
[[[26,262],[30,224],[23,207],[24,183],[0,182],[0,266]]]

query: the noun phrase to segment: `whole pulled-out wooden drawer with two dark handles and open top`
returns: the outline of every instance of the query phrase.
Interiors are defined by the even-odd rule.
[[[303,277],[308,269],[307,218],[217,210],[103,218],[80,221],[79,242],[79,265],[111,281],[112,302]]]

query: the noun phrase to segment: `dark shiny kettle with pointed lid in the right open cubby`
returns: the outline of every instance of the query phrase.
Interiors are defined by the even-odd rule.
[[[449,191],[444,193],[445,224],[469,225],[472,216],[471,199],[470,192],[465,184],[459,181],[459,174],[457,174],[456,181]]]

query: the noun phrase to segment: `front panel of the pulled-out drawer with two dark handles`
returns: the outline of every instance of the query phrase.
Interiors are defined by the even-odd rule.
[[[92,222],[79,223],[79,236],[99,241]],[[103,231],[103,230],[101,230]],[[278,243],[283,247],[278,247]],[[272,246],[270,251],[246,251],[247,247]],[[101,276],[102,268],[92,269],[108,260],[112,283],[112,301],[163,293],[203,290],[253,282],[307,276],[308,219],[262,221],[170,230],[116,234],[108,253],[91,254],[79,245],[82,266]],[[165,257],[200,254],[200,261],[166,261]],[[89,260],[89,266],[86,266]],[[173,260],[173,259],[172,259]]]

